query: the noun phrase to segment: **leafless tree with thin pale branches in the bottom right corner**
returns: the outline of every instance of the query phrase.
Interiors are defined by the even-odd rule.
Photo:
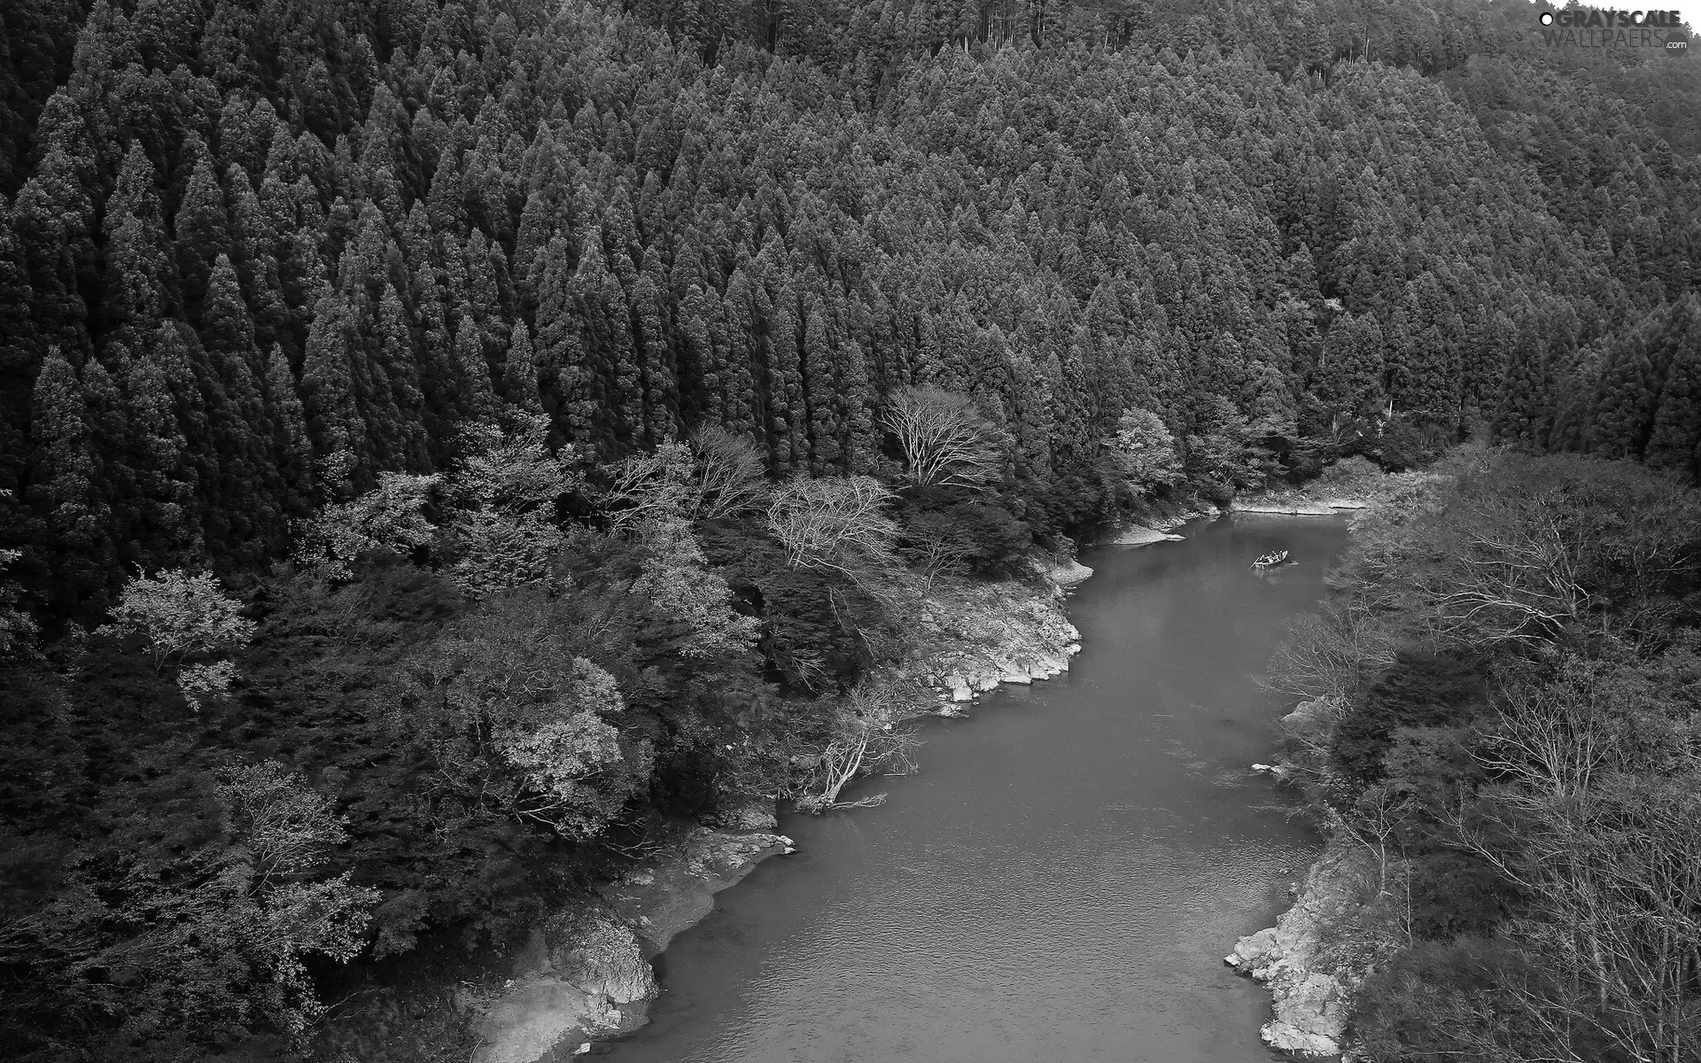
[[[1509,935],[1553,976],[1505,988],[1533,1027],[1558,1020],[1551,1058],[1604,1041],[1614,1058],[1691,1060],[1701,1048],[1701,755],[1681,747],[1647,772],[1645,735],[1628,721],[1658,716],[1623,691],[1607,702],[1594,679],[1573,667],[1505,699],[1478,753],[1497,784],[1451,827],[1529,898]]]

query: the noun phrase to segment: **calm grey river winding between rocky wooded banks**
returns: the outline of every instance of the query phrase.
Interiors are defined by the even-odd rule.
[[[1269,1063],[1269,995],[1223,956],[1269,925],[1317,838],[1267,760],[1255,684],[1322,597],[1340,519],[1237,515],[1104,548],[1073,668],[929,721],[873,810],[788,816],[658,961],[614,1063]],[[1298,565],[1247,563],[1288,548]]]

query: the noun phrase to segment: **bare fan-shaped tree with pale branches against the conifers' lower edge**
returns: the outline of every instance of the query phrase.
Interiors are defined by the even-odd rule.
[[[919,486],[983,488],[1002,469],[1000,430],[964,395],[898,388],[886,398],[885,425]]]

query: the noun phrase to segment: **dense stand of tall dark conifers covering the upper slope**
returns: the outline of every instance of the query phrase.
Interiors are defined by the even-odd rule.
[[[26,5],[12,68],[73,53],[51,92],[12,78],[0,486],[27,582],[97,609],[128,568],[253,563],[502,403],[604,456],[713,422],[776,475],[849,473],[883,396],[930,383],[1009,430],[1039,534],[1102,515],[1129,408],[1301,466],[1471,417],[1641,456],[1664,417],[1657,454],[1694,464],[1692,342],[1648,338],[1641,372],[1607,337],[1681,333],[1696,162],[1570,122],[1596,102],[1570,82],[1522,133],[1533,182],[1415,71],[1325,85],[1228,9],[1189,44],[1162,12],[1095,41],[1109,9],[981,5],[937,56],[958,31],[927,5],[670,10],[672,43],[592,5]],[[1483,107],[1553,80],[1448,73]],[[1628,447],[1596,425],[1626,403]]]

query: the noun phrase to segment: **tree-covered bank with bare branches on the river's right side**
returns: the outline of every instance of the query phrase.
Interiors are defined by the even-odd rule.
[[[1692,1060],[1701,493],[1449,466],[1354,527],[1274,663],[1288,767],[1368,864],[1320,966],[1368,971],[1371,1060]]]

